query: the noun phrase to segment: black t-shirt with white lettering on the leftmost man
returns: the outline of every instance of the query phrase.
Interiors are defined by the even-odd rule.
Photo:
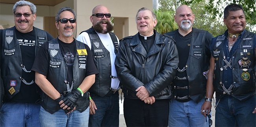
[[[22,64],[25,66],[27,71],[30,71],[35,60],[35,30],[33,29],[28,33],[21,33],[17,29],[15,29],[14,32],[20,44]],[[52,35],[47,33],[47,39],[52,40]],[[2,46],[3,42],[0,42],[0,45]],[[24,70],[22,70],[22,77],[28,83],[35,81],[35,74],[33,72],[25,72]],[[13,98],[11,98],[10,100],[4,98],[4,102],[39,103],[40,95],[37,94],[38,89],[39,87],[35,83],[31,85],[26,85],[21,81],[20,92],[13,96]]]

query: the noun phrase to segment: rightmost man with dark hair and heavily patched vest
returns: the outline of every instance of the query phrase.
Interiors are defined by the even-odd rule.
[[[227,30],[210,44],[206,98],[215,92],[216,127],[256,127],[256,35],[245,29],[241,5],[226,6],[223,21]],[[204,102],[202,110],[211,110],[211,103]]]

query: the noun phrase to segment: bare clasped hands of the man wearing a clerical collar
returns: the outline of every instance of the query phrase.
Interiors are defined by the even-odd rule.
[[[154,96],[152,96],[152,97],[149,96],[149,92],[146,87],[140,86],[135,91],[137,91],[136,96],[139,99],[141,99],[142,101],[144,101],[145,103],[148,103],[150,105],[155,103],[156,100],[155,100]]]

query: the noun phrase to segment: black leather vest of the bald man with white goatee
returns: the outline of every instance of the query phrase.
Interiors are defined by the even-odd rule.
[[[177,32],[178,29],[166,34],[171,36],[175,40]],[[206,38],[206,31],[193,28],[192,32],[193,33],[190,43],[189,57],[186,63],[187,79],[189,81],[188,96],[189,98],[193,99],[195,102],[198,103],[202,98],[205,97],[206,94],[207,80],[204,77],[203,72],[208,70],[208,67],[210,65],[210,58],[208,58],[205,53],[204,42]],[[176,79],[174,79],[173,83],[171,84],[173,90],[173,97],[176,96],[175,80]]]

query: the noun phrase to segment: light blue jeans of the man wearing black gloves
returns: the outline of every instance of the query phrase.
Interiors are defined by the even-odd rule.
[[[50,114],[41,107],[41,127],[88,127],[89,111],[90,109],[87,108],[83,112],[74,110],[69,114],[65,114],[65,111],[60,109],[54,114]]]

